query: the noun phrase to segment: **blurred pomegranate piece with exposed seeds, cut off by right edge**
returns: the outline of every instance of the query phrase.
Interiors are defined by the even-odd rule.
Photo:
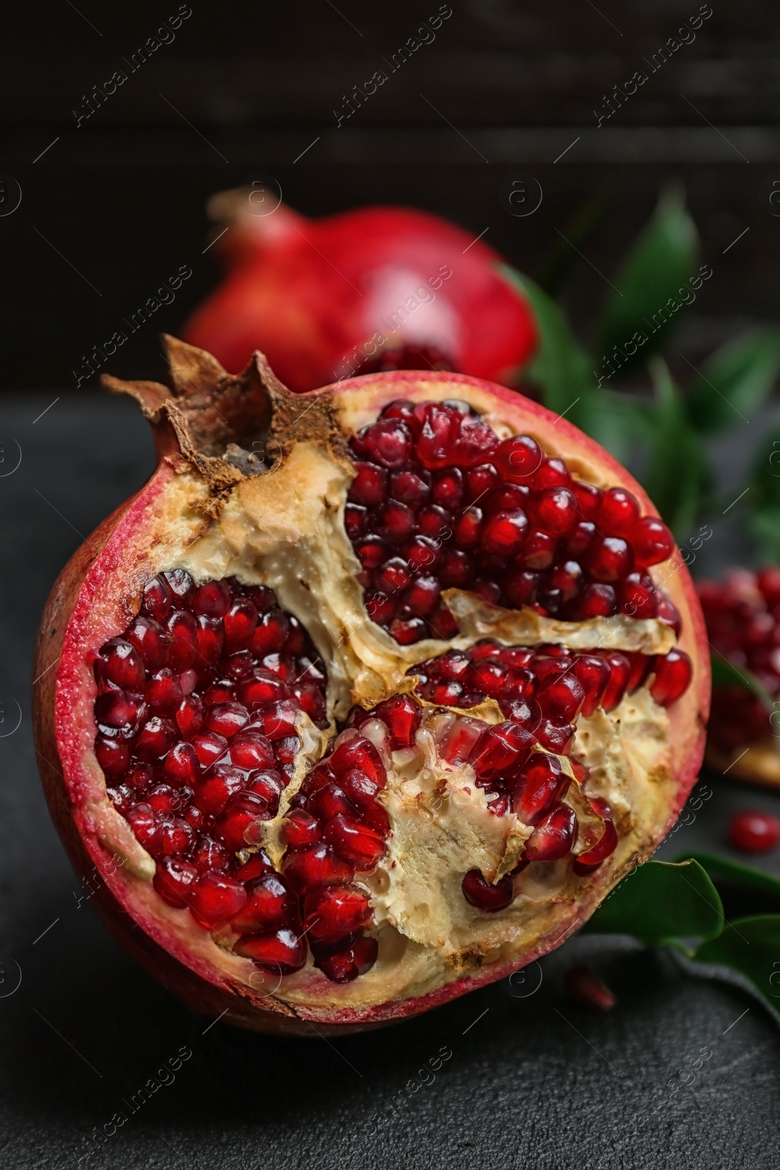
[[[715,652],[752,674],[771,700],[780,698],[780,566],[732,569],[718,581],[698,581],[697,590]],[[738,679],[716,686],[707,759],[731,777],[776,787],[778,720],[767,707]]]

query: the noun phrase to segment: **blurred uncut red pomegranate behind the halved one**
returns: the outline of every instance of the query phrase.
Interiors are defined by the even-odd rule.
[[[483,241],[424,212],[309,220],[257,192],[215,195],[229,267],[184,336],[242,370],[255,349],[295,391],[379,370],[458,370],[510,384],[532,353],[531,308]]]

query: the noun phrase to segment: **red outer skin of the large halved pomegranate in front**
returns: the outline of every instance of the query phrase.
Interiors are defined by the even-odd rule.
[[[187,380],[186,374],[195,377],[198,365],[219,369],[208,355],[189,351],[174,338],[164,338],[164,344],[168,349],[172,367],[179,360],[181,372],[175,393],[184,393],[181,387]],[[221,371],[221,377],[230,386],[241,381],[239,377],[225,374],[225,371]],[[333,395],[353,394],[356,401],[364,406],[371,404],[371,408],[379,414],[387,402],[407,398],[419,378],[409,371],[381,373],[326,386],[309,397],[313,400],[326,392]],[[256,355],[244,384],[244,392],[249,394],[247,386],[250,386],[251,394],[255,394],[248,406],[250,412],[268,412],[268,401],[260,402],[256,387],[258,381],[267,385],[269,379],[274,381],[274,376],[262,355]],[[491,395],[508,421],[513,421],[519,428],[532,427],[543,443],[546,438],[552,440],[555,436],[559,449],[562,445],[571,452],[580,452],[603,470],[606,480],[621,483],[631,491],[644,514],[656,515],[640,484],[565,419],[555,418],[552,412],[515,392],[463,374],[447,374],[447,381],[448,385],[455,384],[451,393],[456,393],[457,386],[462,385]],[[160,418],[158,410],[164,401],[174,399],[174,393],[157,384],[134,385],[144,386],[141,405],[154,425],[158,467],[136,495],[98,525],[61,572],[41,619],[33,675],[37,680],[33,693],[36,753],[49,811],[76,873],[96,887],[92,904],[99,916],[131,957],[196,1011],[213,1018],[223,1014],[228,1023],[262,1032],[310,1035],[310,1021],[320,1033],[329,1035],[364,1031],[419,1014],[508,977],[517,969],[517,962],[508,961],[471,971],[416,998],[388,1000],[365,1009],[298,1005],[294,1010],[272,996],[263,996],[261,990],[255,993],[244,984],[232,980],[201,956],[186,949],[159,921],[154,901],[157,895],[151,882],[125,876],[115,854],[103,845],[99,826],[88,801],[95,775],[103,782],[92,749],[95,683],[89,651],[126,627],[133,615],[130,599],[139,596],[144,583],[156,572],[145,534],[156,508],[160,507],[165,486],[175,476],[177,469],[185,466],[182,449],[187,448],[187,441],[180,446],[182,433],[177,418],[181,418],[181,412],[174,417],[172,408],[167,418],[165,413]],[[284,387],[278,387],[277,383],[275,386],[283,392]],[[131,392],[141,398],[136,390]],[[221,463],[221,460],[198,454],[192,446],[188,447],[188,457],[201,470],[210,468],[212,463]],[[677,645],[690,654],[693,677],[685,694],[669,708],[670,772],[677,787],[662,832],[647,842],[643,853],[650,853],[671,828],[696,783],[709,711],[709,655],[705,653],[707,644],[702,612],[684,564],[679,558],[675,564],[676,569],[664,580],[663,587],[683,617]],[[109,579],[122,580],[123,587],[106,590]],[[56,668],[50,669],[54,663],[57,663]],[[555,937],[539,937],[524,952],[522,965],[554,949],[562,937],[568,937],[584,924],[608,888],[609,885],[600,888],[598,874],[592,878],[581,901],[561,916]]]

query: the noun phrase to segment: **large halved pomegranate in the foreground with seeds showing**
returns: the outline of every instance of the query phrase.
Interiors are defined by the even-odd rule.
[[[165,344],[171,388],[105,379],[159,463],[63,570],[35,665],[49,806],[105,922],[189,1004],[278,1032],[553,949],[700,763],[702,617],[649,501],[475,378],[302,399],[260,353],[232,376]]]

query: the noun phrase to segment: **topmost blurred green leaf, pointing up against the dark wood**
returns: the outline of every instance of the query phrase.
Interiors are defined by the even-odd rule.
[[[647,362],[667,340],[684,302],[697,296],[688,282],[699,277],[699,259],[696,225],[683,195],[668,191],[615,275],[619,291],[605,302],[596,349],[603,355],[598,357],[600,366],[608,372],[606,360],[612,360],[622,374]],[[635,333],[644,340],[634,343]],[[634,355],[626,353],[629,344],[635,344]],[[610,358],[615,347],[617,356]]]

